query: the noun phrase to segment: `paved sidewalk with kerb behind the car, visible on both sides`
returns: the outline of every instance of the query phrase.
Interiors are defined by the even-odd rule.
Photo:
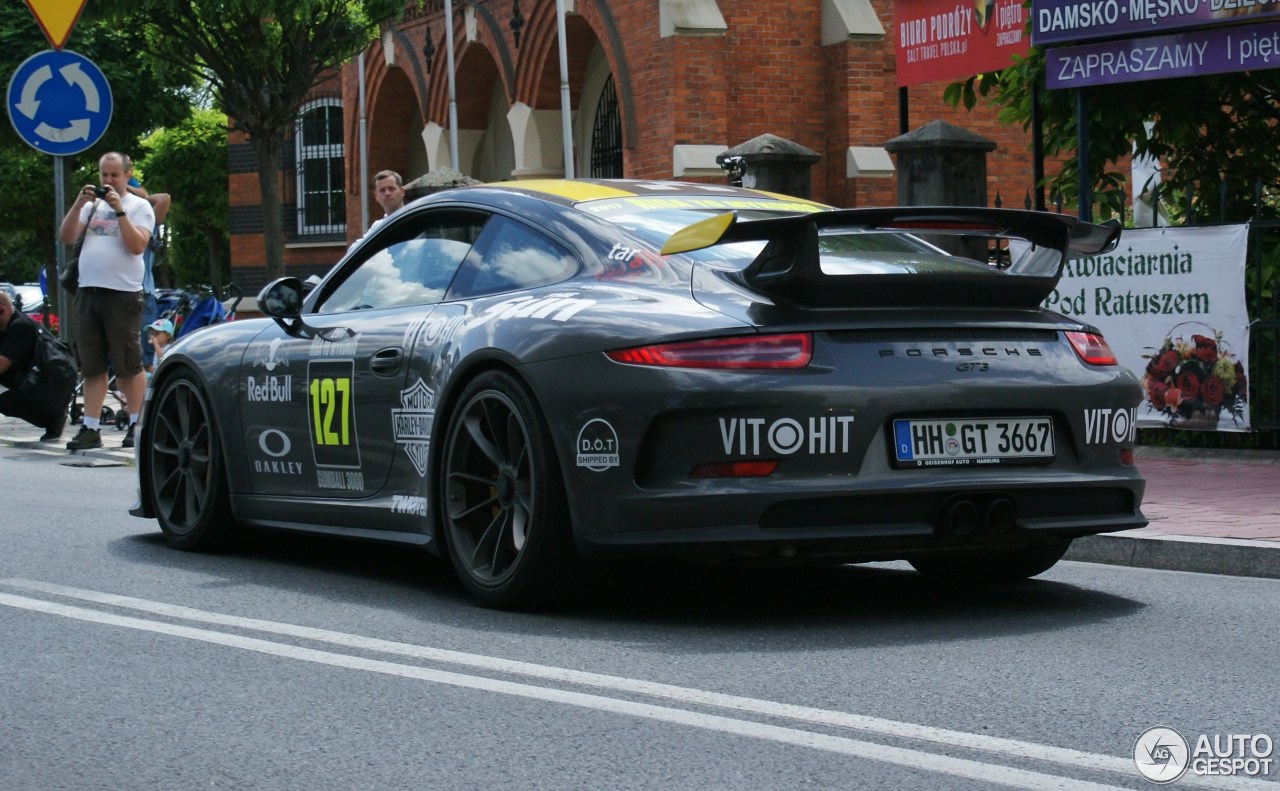
[[[104,447],[67,451],[76,434],[42,443],[40,429],[0,416],[0,444],[81,466],[133,463],[124,431],[102,427]],[[1280,451],[1138,448],[1151,525],[1076,539],[1069,561],[1280,579]]]

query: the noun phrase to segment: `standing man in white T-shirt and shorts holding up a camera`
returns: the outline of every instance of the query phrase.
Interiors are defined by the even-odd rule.
[[[122,447],[133,447],[133,429],[142,408],[147,381],[142,372],[142,252],[155,229],[151,204],[129,192],[133,164],[110,151],[97,160],[101,187],[84,184],[67,216],[60,237],[74,244],[84,233],[79,252],[79,288],[76,292],[76,346],[84,378],[84,424],[67,443],[68,451],[102,447],[100,416],[106,401],[108,370],[115,378],[129,411],[129,430]]]

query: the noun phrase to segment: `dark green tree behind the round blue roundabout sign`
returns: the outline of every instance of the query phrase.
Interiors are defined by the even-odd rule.
[[[23,60],[49,49],[36,18],[23,4],[0,5],[0,73],[12,76]],[[188,111],[191,79],[159,68],[138,49],[128,28],[82,18],[65,49],[92,60],[111,87],[111,122],[91,148],[63,157],[68,195],[81,184],[97,182],[97,159],[108,151],[137,154],[138,138]],[[0,279],[14,282],[38,276],[44,266],[56,282],[55,250],[60,212],[54,206],[54,157],[28,146],[13,124],[0,124],[0,216],[22,223],[0,228]]]

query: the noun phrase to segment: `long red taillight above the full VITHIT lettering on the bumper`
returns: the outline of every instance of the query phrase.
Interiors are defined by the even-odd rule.
[[[786,333],[655,343],[607,355],[614,362],[676,369],[803,369],[813,357],[813,335]]]

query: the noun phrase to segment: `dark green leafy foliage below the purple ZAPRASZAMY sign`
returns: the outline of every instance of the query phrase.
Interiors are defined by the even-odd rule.
[[[1032,123],[1038,96],[1047,157],[1065,157],[1047,174],[1051,191],[1076,204],[1079,159],[1075,90],[1034,91],[1044,84],[1044,51],[1002,70],[947,86],[945,99],[973,109],[979,100],[998,109],[1006,124]],[[1133,154],[1162,164],[1165,206],[1198,221],[1248,219],[1254,211],[1276,216],[1280,204],[1280,70],[1126,82],[1076,88],[1087,109],[1089,183],[1103,211],[1124,214],[1128,178],[1121,163]],[[1153,122],[1151,133],[1146,123]],[[1262,195],[1258,195],[1260,186]],[[1130,186],[1142,189],[1142,184]],[[1267,202],[1267,191],[1272,197]],[[1258,198],[1262,198],[1261,206]]]

